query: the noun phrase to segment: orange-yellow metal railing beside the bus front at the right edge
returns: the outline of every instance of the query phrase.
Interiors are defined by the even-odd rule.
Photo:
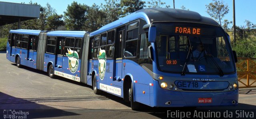
[[[238,57],[236,70],[239,88],[256,87],[256,58]]]

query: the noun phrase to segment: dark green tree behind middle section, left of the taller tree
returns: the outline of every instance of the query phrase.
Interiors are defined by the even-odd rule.
[[[64,25],[64,21],[62,20],[62,15],[58,15],[54,13],[53,15],[49,16],[46,19],[46,30],[51,31],[51,30],[56,30],[58,26]]]

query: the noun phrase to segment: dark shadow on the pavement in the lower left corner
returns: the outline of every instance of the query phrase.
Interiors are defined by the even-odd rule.
[[[24,116],[26,114],[26,118],[49,118],[49,117],[62,117],[62,116],[74,116],[79,115],[77,113],[56,109],[53,107],[49,107],[46,105],[41,105],[34,102],[28,103],[18,103],[16,100],[20,101],[28,101],[22,98],[16,98],[7,94],[0,92],[0,118],[7,116]],[[11,111],[12,113],[8,113]],[[23,113],[21,113],[23,112]],[[28,112],[28,113],[26,113]],[[14,114],[13,114],[14,113]],[[13,118],[9,118],[13,119]]]

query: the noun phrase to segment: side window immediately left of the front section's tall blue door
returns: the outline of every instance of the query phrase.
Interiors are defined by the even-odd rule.
[[[108,39],[106,45],[106,58],[114,57],[114,43],[115,43],[115,31],[108,32]]]

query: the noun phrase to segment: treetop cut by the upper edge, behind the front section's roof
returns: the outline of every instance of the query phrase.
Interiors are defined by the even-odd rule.
[[[145,3],[142,0],[121,0],[124,16],[143,9],[146,7]]]

